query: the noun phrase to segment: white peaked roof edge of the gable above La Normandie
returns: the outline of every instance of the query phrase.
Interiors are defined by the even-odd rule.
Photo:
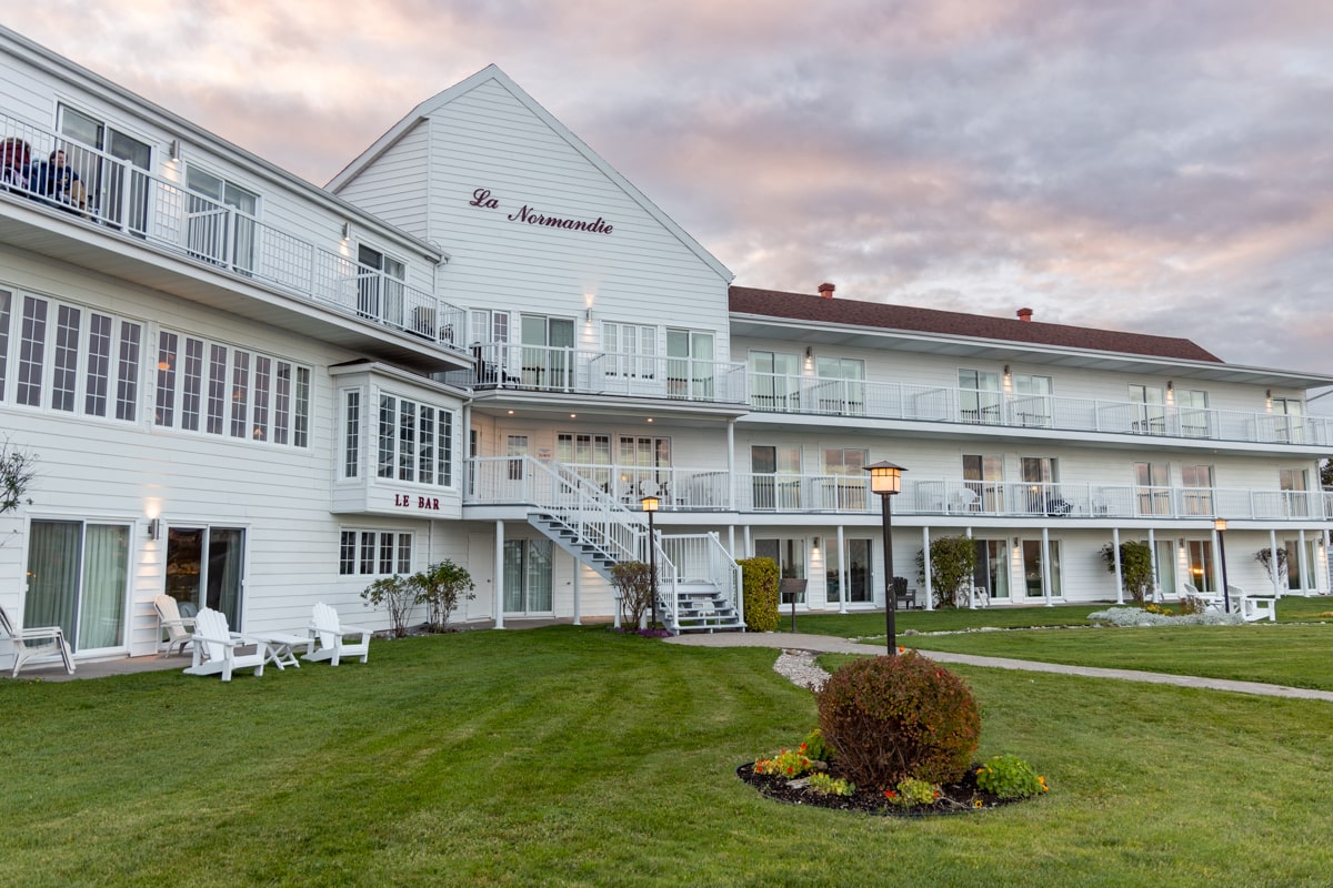
[[[369,164],[372,164],[380,154],[393,146],[403,136],[405,136],[413,126],[424,120],[429,120],[431,114],[451,101],[459,99],[460,96],[472,92],[481,84],[488,81],[495,81],[500,84],[501,88],[509,92],[519,103],[528,108],[537,118],[545,122],[552,132],[555,132],[560,138],[567,141],[571,148],[584,156],[584,158],[596,166],[607,178],[615,182],[625,194],[629,196],[636,204],[644,208],[649,216],[652,216],[663,228],[670,232],[681,244],[685,245],[690,252],[698,256],[713,272],[717,273],[724,281],[730,281],[736,276],[717,261],[712,253],[709,253],[704,246],[690,237],[685,229],[677,225],[666,213],[664,213],[656,204],[653,204],[647,194],[635,188],[635,185],[621,176],[615,166],[608,164],[601,156],[597,154],[588,144],[579,138],[568,126],[560,122],[555,114],[543,108],[536,99],[529,96],[519,84],[516,84],[509,75],[500,71],[497,65],[487,65],[477,73],[472,75],[467,80],[459,81],[449,87],[444,92],[436,93],[431,99],[427,99],[420,105],[412,109],[412,112],[395,124],[387,133],[380,136],[373,145],[361,152],[351,164],[348,164],[343,172],[329,180],[328,189],[335,194],[353,178],[360,176]]]

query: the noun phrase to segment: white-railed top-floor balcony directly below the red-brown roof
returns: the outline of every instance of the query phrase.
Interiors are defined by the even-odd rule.
[[[1333,445],[1333,419],[1093,398],[1010,395],[944,386],[749,374],[750,407],[866,419],[1094,431],[1148,438]]]

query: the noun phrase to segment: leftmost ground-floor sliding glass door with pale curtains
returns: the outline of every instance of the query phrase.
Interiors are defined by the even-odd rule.
[[[125,642],[129,525],[33,521],[23,624],[59,626],[75,651]]]

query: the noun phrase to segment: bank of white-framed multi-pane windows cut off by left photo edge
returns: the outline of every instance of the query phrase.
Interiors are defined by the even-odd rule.
[[[0,292],[0,401],[137,419],[141,324],[37,296],[17,302],[15,317]]]

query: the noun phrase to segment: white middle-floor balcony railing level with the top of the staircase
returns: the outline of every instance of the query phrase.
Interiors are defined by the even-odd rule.
[[[512,505],[524,498],[521,461],[471,461],[468,505]],[[664,511],[878,515],[869,477],[782,475],[674,466],[567,465],[595,487],[637,511],[657,497]],[[1088,482],[902,481],[894,514],[962,519],[1333,519],[1333,491],[1226,487],[1138,487]]]

